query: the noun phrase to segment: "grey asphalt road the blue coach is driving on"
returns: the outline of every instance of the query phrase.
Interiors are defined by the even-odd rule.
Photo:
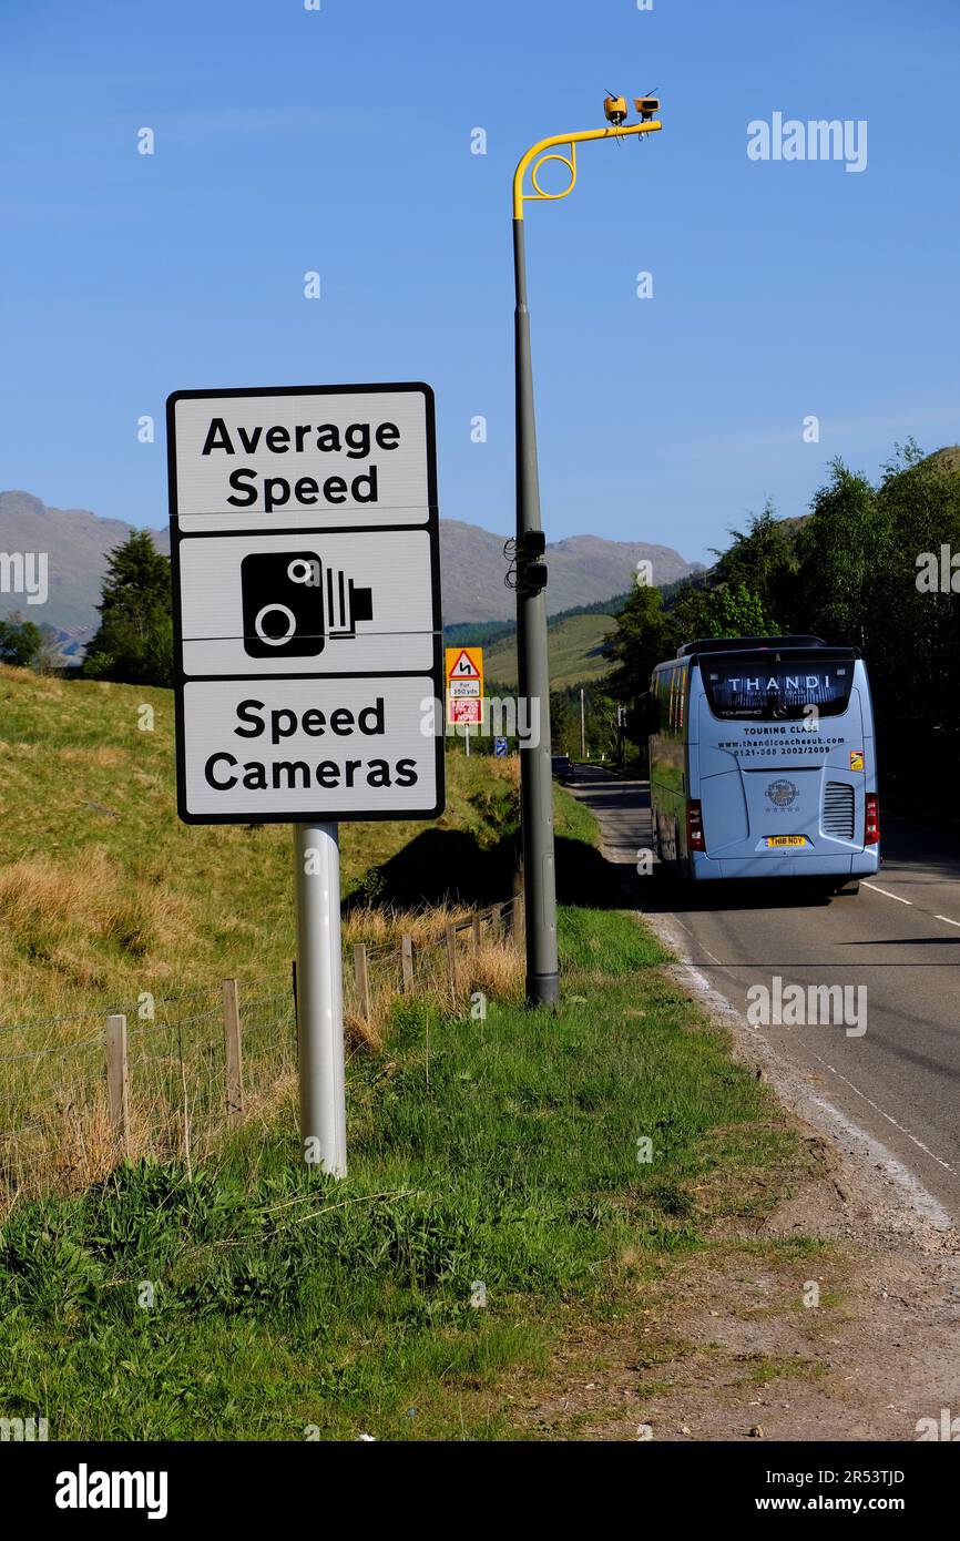
[[[866,986],[866,1031],[760,1026],[848,1119],[892,1151],[960,1224],[960,841],[884,815],[877,878],[824,903],[781,885],[683,892],[636,874],[650,848],[649,787],[579,767],[636,906],[660,912],[683,954],[741,1012],[750,986]],[[755,999],[755,997],[752,997]],[[849,1022],[849,1019],[848,1019]],[[860,1026],[860,1023],[852,1026]]]

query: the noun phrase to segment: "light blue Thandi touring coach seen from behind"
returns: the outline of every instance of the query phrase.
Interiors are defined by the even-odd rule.
[[[866,664],[818,636],[686,643],[641,703],[653,849],[704,878],[858,891],[880,865]]]

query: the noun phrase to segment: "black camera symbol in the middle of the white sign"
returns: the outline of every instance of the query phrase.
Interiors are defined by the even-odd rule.
[[[373,592],[316,552],[267,552],[240,562],[243,649],[251,658],[316,658],[373,619]]]

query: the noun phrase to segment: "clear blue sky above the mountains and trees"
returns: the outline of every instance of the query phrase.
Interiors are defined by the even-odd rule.
[[[0,51],[3,488],[160,525],[171,390],[425,379],[441,513],[509,532],[510,179],[607,89],[663,133],[527,205],[549,539],[703,559],[960,439],[955,0],[5,0]],[[864,119],[866,170],[750,160],[775,111]]]

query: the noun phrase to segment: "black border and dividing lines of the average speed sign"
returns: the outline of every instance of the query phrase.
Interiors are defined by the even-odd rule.
[[[431,567],[431,599],[433,599],[433,664],[430,673],[422,673],[421,670],[388,670],[379,669],[376,672],[365,673],[316,673],[314,670],[291,670],[285,675],[185,675],[183,672],[183,638],[180,630],[182,612],[180,612],[180,541],[182,539],[202,539],[216,541],[227,535],[299,535],[307,536],[314,532],[308,530],[290,530],[271,525],[268,529],[250,529],[243,530],[210,530],[210,532],[190,532],[188,535],[180,533],[180,519],[177,510],[177,445],[176,445],[176,428],[174,428],[174,413],[179,401],[213,401],[228,396],[379,396],[390,394],[396,391],[418,391],[424,398],[425,408],[425,427],[427,427],[427,522],[425,525],[418,524],[336,524],[325,525],[324,535],[364,535],[376,533],[378,530],[418,530],[425,529],[430,538],[430,567]],[[176,757],[177,757],[177,815],[185,824],[342,824],[342,823],[382,823],[398,820],[427,820],[439,818],[445,807],[445,758],[444,758],[444,732],[442,732],[442,717],[444,717],[444,623],[441,610],[441,550],[439,550],[439,505],[436,492],[436,407],[433,388],[424,381],[391,381],[373,385],[263,385],[263,387],[225,387],[223,390],[177,390],[166,398],[166,478],[168,478],[168,495],[170,495],[170,566],[171,566],[171,584],[173,584],[173,623],[174,623],[174,717],[176,717]],[[250,680],[256,683],[257,680],[430,680],[433,686],[433,700],[439,703],[439,726],[441,730],[435,732],[435,774],[436,774],[436,803],[430,807],[411,807],[411,809],[396,809],[385,812],[356,812],[354,809],[317,809],[313,812],[297,811],[294,815],[290,812],[270,814],[262,811],[253,811],[250,814],[191,814],[186,807],[186,743],[185,743],[185,724],[183,724],[183,687],[194,681],[237,681]],[[435,723],[435,729],[436,729]]]

